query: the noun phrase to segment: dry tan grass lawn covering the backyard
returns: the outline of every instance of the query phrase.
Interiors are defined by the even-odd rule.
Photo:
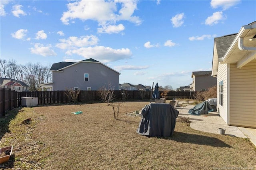
[[[19,118],[10,122],[9,132],[2,133],[1,127],[0,144],[14,145],[10,169],[31,169],[33,161],[35,169],[46,170],[256,169],[256,148],[244,138],[200,132],[178,122],[168,138],[137,134],[141,118],[126,115],[126,109],[134,112],[148,103],[128,102],[127,108],[124,103],[118,120],[106,103],[24,108],[15,119],[31,117],[33,123],[19,125]],[[76,111],[83,113],[71,113]]]

